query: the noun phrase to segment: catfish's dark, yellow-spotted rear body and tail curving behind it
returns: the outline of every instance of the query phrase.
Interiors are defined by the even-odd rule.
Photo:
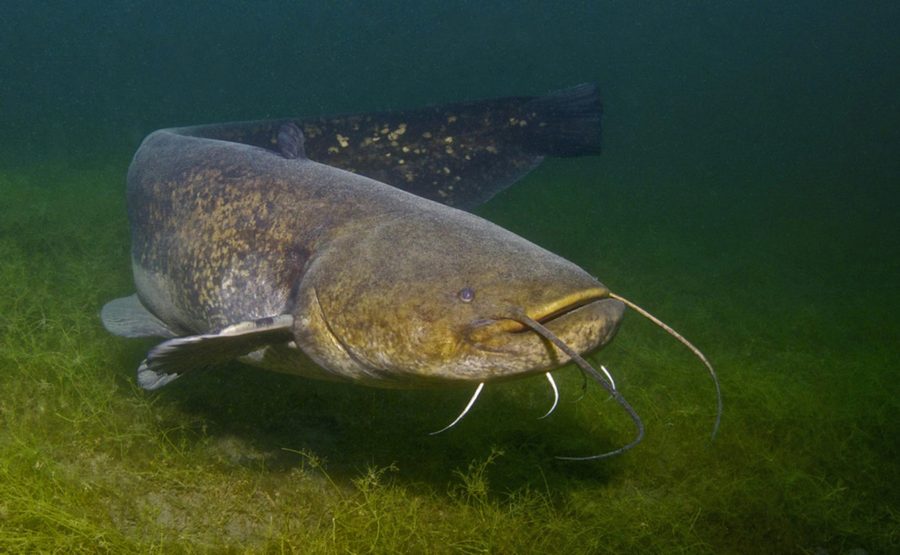
[[[593,85],[544,97],[510,97],[417,110],[210,125],[188,132],[275,148],[293,122],[309,159],[448,206],[471,208],[534,169],[544,156],[600,152]]]

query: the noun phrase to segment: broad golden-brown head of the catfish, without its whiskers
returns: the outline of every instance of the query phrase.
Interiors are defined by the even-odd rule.
[[[441,207],[342,233],[312,261],[297,345],[340,377],[381,387],[491,382],[557,368],[612,339],[625,305],[575,264]]]

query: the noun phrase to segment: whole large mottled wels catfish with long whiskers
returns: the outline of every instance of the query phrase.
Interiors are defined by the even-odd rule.
[[[599,135],[592,85],[156,131],[127,180],[137,293],[104,306],[103,323],[167,339],[138,368],[145,389],[233,359],[375,387],[478,384],[459,418],[488,382],[543,373],[555,393],[550,371],[571,360],[628,411],[637,435],[567,458],[620,453],[643,426],[612,376],[581,355],[607,344],[634,305],[456,208],[484,202],[546,155],[598,152]],[[715,427],[720,415],[719,396]]]

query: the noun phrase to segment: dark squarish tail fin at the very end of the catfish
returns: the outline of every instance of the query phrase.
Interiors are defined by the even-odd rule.
[[[600,154],[602,113],[600,95],[592,83],[537,97],[523,106],[528,123],[522,146],[544,156]]]

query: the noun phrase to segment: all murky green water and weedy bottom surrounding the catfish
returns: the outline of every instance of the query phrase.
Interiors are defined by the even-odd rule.
[[[900,10],[812,2],[13,3],[0,21],[0,551],[800,552],[900,548]],[[629,316],[606,364],[385,392],[234,365],[158,394],[108,336],[124,175],[153,129],[600,85],[605,152],[479,214]],[[494,456],[499,451],[502,455]],[[324,461],[324,462],[323,462]],[[817,551],[819,550],[819,551]],[[858,551],[859,552],[859,551]]]

